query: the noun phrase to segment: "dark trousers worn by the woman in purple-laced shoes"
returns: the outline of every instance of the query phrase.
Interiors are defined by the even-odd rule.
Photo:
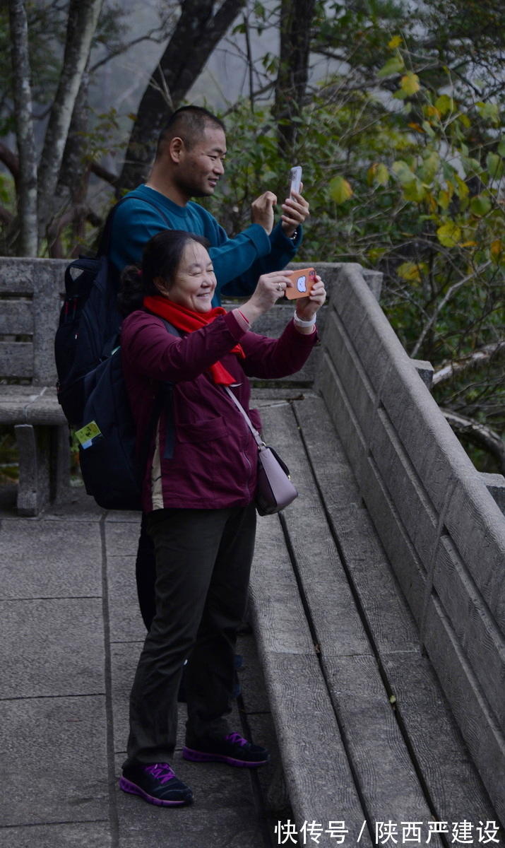
[[[254,504],[223,510],[155,510],[156,614],[130,695],[131,762],[169,762],[177,692],[186,671],[186,741],[226,733],[236,631],[247,603]]]

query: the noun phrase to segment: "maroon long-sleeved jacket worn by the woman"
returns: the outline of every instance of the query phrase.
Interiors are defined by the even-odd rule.
[[[174,428],[167,429],[166,408],[159,421],[165,507],[220,509],[246,506],[254,497],[258,448],[225,389],[215,385],[208,375],[208,366],[221,360],[236,378],[238,385],[232,391],[248,411],[247,377],[268,379],[293,374],[307,360],[316,339],[316,332],[297,332],[292,321],[278,339],[244,332],[231,312],[201,330],[176,338],[156,315],[141,310],[128,315],[121,330],[121,351],[136,421],[137,449],[149,428],[159,382],[175,384]],[[229,352],[237,342],[241,343],[245,359]],[[251,410],[250,418],[259,429],[258,411]],[[173,445],[165,444],[167,432],[175,435]],[[142,505],[146,512],[153,510],[153,454],[154,440],[143,485]]]

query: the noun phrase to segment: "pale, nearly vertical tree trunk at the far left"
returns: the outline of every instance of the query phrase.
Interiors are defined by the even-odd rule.
[[[17,252],[21,256],[36,256],[36,145],[31,106],[28,24],[23,0],[9,0],[8,13],[12,43],[14,114],[19,158],[19,238]]]

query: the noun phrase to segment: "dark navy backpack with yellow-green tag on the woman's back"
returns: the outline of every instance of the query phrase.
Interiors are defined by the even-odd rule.
[[[180,336],[164,321],[168,332]],[[142,438],[142,451],[136,455],[136,427],[130,410],[121,364],[121,349],[114,349],[83,380],[86,398],[79,441],[80,473],[99,506],[106,510],[142,510],[142,478],[147,456],[161,410],[167,410],[167,438],[164,456],[170,456],[174,443],[172,384],[160,383],[153,414]]]

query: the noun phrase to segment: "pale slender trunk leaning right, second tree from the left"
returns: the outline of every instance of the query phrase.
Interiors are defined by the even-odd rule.
[[[39,169],[39,235],[43,237],[52,212],[52,198],[64,156],[70,120],[80,81],[97,28],[103,0],[70,0],[64,64],[47,125]]]

